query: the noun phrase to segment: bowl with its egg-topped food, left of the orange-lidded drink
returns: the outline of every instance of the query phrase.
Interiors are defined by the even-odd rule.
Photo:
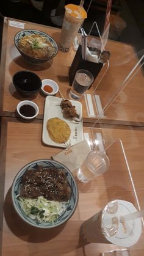
[[[57,43],[50,35],[35,29],[19,31],[14,43],[21,56],[32,64],[43,64],[56,56]]]

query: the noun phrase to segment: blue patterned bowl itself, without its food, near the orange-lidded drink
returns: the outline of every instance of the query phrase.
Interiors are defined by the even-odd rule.
[[[52,46],[54,47],[54,53],[52,54],[51,57],[48,57],[48,58],[45,58],[45,59],[38,59],[38,58],[35,58],[35,57],[31,57],[31,56],[23,53],[23,51],[21,51],[21,49],[18,46],[18,42],[20,41],[21,38],[24,37],[24,35],[32,35],[32,34],[34,34],[34,35],[38,34],[38,35],[41,35],[43,37],[46,37],[48,42],[50,42],[52,44]],[[23,56],[24,59],[28,60],[32,64],[43,64],[44,62],[46,62],[49,59],[52,59],[54,56],[56,56],[57,51],[58,51],[57,43],[54,41],[54,39],[52,37],[50,37],[50,35],[46,34],[45,32],[35,30],[35,29],[24,29],[24,30],[18,32],[15,35],[14,43],[15,43],[16,48],[20,52],[21,56]]]

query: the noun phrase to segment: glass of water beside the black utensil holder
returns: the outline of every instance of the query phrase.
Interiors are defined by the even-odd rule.
[[[88,70],[77,70],[69,97],[74,100],[79,100],[82,95],[84,95],[88,87],[92,85],[93,81],[93,75]]]

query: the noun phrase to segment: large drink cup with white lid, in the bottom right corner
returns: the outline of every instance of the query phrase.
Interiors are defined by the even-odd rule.
[[[81,236],[87,243],[111,243],[130,247],[137,243],[142,233],[141,218],[121,222],[121,216],[137,211],[131,202],[115,200],[104,210],[81,225]]]

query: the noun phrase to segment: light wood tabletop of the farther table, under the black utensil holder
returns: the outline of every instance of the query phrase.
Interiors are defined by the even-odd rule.
[[[49,60],[43,65],[31,65],[26,62],[18,53],[13,43],[13,38],[16,32],[21,28],[9,25],[9,18],[5,18],[4,31],[2,38],[2,58],[1,58],[1,115],[15,116],[16,105],[24,98],[15,91],[12,84],[12,77],[19,70],[31,70],[37,73],[41,79],[50,78],[54,79],[58,84],[63,97],[68,98],[70,86],[68,84],[68,70],[72,63],[75,52],[71,48],[69,53],[58,52],[57,56]],[[24,24],[24,29],[39,29],[51,35],[56,42],[59,42],[60,29],[54,27],[43,26],[40,24],[29,23],[25,21],[18,21]],[[121,88],[121,83],[126,78],[128,73],[132,70],[137,63],[137,56],[134,48],[125,43],[112,42],[107,43],[107,49],[111,53],[110,67],[104,76],[103,80],[96,89],[96,94],[101,99],[102,106],[106,106],[110,98],[113,97],[115,92]],[[103,75],[104,70],[99,73],[93,86],[88,93],[93,93],[93,89],[98,85],[99,79]],[[106,111],[106,119],[103,122],[115,123],[133,123],[136,125],[143,124],[143,75],[142,70],[139,70],[137,75],[128,84],[126,89],[120,93],[120,96],[115,100]],[[56,95],[59,97],[59,93]],[[38,93],[36,98],[29,98],[34,100],[40,108],[40,115],[38,118],[43,118],[43,106],[45,96]],[[87,108],[84,98],[82,99],[83,106],[83,119],[85,122],[95,122],[95,117],[88,117]],[[94,109],[95,106],[93,105]],[[95,109],[96,110],[96,109]]]

